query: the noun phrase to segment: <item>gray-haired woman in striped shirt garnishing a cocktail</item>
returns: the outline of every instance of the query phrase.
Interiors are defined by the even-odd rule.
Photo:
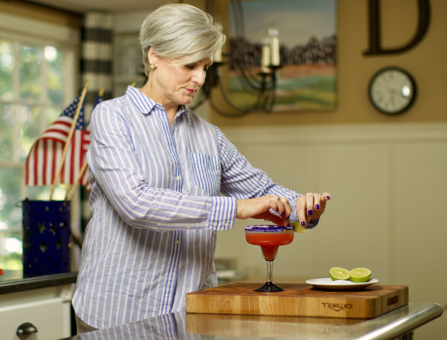
[[[148,82],[92,114],[93,218],[73,298],[80,332],[184,310],[186,293],[217,285],[215,231],[235,218],[314,227],[325,209],[328,193],[273,183],[187,109],[224,42],[198,8],[158,8],[140,31]]]

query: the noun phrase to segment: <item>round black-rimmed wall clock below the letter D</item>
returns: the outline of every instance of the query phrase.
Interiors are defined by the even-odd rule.
[[[372,105],[380,112],[394,114],[409,108],[416,95],[416,84],[404,70],[388,67],[378,71],[369,86]]]

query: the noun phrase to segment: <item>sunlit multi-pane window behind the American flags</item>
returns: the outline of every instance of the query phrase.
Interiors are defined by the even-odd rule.
[[[26,187],[24,165],[38,136],[74,99],[75,47],[0,32],[0,268],[21,269],[25,197],[48,199],[48,187]],[[65,196],[58,187],[57,199]]]

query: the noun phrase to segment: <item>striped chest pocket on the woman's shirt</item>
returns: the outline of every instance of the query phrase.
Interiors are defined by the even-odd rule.
[[[220,192],[220,160],[217,156],[190,152],[194,183],[210,196]]]

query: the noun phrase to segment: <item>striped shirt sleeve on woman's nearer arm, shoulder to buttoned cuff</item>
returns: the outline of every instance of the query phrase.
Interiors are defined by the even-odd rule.
[[[129,225],[157,231],[186,226],[223,230],[233,226],[234,197],[198,197],[148,185],[135,155],[130,126],[113,105],[102,103],[96,107],[90,131],[87,158],[92,183],[101,186]]]

